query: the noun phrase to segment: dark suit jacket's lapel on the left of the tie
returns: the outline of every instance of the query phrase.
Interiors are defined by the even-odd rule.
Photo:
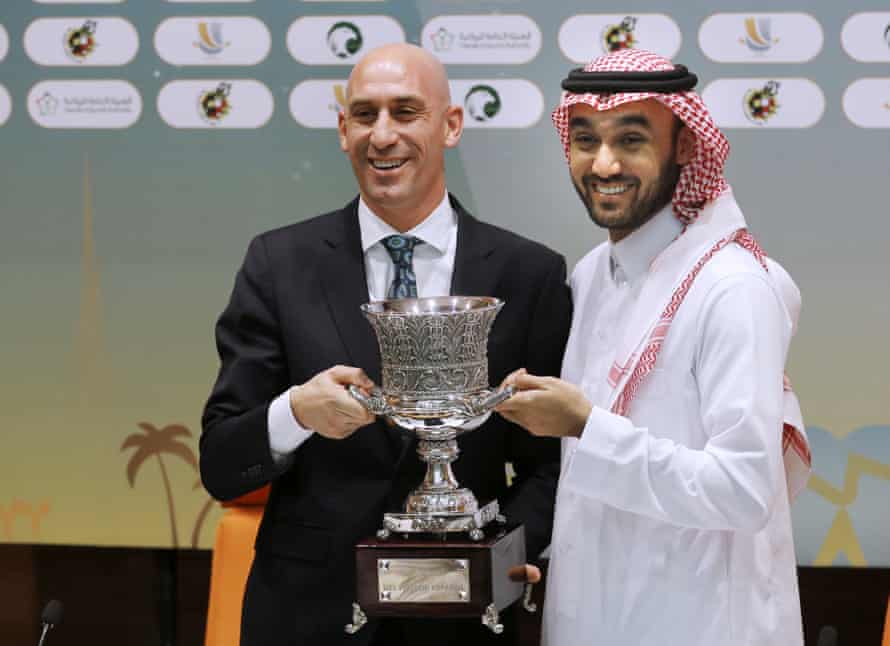
[[[358,225],[358,200],[344,208],[340,216],[324,237],[328,250],[321,266],[323,293],[352,365],[362,368],[379,383],[377,337],[361,312],[361,306],[368,302],[368,281]]]

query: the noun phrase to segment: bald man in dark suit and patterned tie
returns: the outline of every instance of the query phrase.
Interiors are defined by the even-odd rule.
[[[429,53],[404,44],[370,52],[350,75],[339,116],[359,196],[248,248],[217,324],[221,367],[201,436],[201,476],[214,497],[272,483],[245,592],[245,646],[510,643],[509,618],[500,637],[479,619],[372,619],[355,635],[343,630],[355,543],[423,478],[413,435],[375,420],[344,388],[370,388],[380,376],[359,306],[394,294],[502,299],[489,339],[492,383],[520,366],[558,375],[568,336],[564,259],[480,222],[447,192],[444,151],[462,126]],[[404,244],[410,276],[391,253]],[[498,416],[458,443],[462,486],[523,523],[537,556],[550,540],[558,443]]]

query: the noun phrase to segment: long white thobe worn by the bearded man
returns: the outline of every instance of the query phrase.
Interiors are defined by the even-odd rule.
[[[563,440],[547,646],[803,644],[781,446],[792,317],[751,253],[705,264],[629,418],[609,412],[615,349],[680,230],[665,210],[571,278],[562,376],[594,408]]]

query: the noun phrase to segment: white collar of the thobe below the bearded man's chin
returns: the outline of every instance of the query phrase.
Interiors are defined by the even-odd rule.
[[[649,271],[655,257],[683,231],[668,204],[646,224],[617,243],[609,243],[609,269],[617,283],[635,282]]]

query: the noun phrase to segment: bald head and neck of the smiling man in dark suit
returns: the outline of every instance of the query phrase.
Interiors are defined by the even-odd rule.
[[[399,231],[445,195],[444,150],[457,145],[463,127],[463,110],[449,98],[441,63],[412,45],[369,53],[349,77],[340,147],[362,198]]]

